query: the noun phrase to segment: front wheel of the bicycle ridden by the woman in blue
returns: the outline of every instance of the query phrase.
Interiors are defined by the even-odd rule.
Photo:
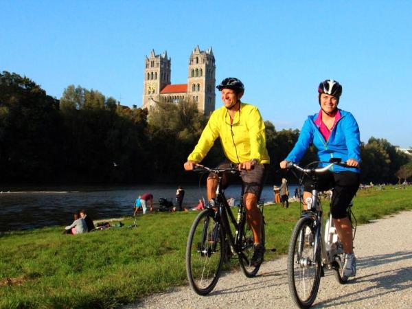
[[[300,218],[293,229],[288,251],[289,290],[300,308],[313,304],[321,282],[321,250],[319,247],[315,253],[314,239],[313,220]]]

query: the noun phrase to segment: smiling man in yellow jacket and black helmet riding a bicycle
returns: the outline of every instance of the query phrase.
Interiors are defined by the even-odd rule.
[[[185,170],[193,170],[209,152],[214,141],[220,137],[223,151],[229,162],[239,166],[244,185],[244,205],[247,208],[247,220],[251,225],[255,249],[251,264],[258,266],[263,262],[264,246],[261,244],[262,215],[258,209],[258,200],[266,178],[267,165],[270,163],[266,150],[266,135],[262,116],[256,106],[240,101],[244,85],[238,78],[225,78],[216,87],[222,95],[223,105],[214,111],[198,140],[193,152],[187,157]],[[227,175],[225,186],[229,185]],[[216,196],[218,180],[215,174],[207,177],[207,198]]]

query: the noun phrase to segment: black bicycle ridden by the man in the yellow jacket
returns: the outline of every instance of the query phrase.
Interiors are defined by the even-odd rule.
[[[225,172],[238,174],[237,168],[207,168],[196,165],[195,172],[214,172],[218,175],[216,198],[196,216],[187,238],[186,272],[190,286],[198,295],[207,295],[214,289],[223,260],[229,262],[231,255],[238,255],[244,275],[254,277],[260,265],[253,266],[253,233],[246,220],[246,208],[243,204],[243,186],[238,205],[238,216],[234,217],[222,188],[222,175]],[[264,246],[263,205],[259,206],[262,214],[261,243]],[[233,230],[231,229],[232,224]],[[234,235],[233,235],[234,231]]]

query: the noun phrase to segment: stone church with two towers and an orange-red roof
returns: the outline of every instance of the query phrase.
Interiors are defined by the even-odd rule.
[[[215,59],[211,47],[201,51],[198,46],[189,57],[187,84],[171,84],[171,62],[168,53],[146,56],[143,85],[143,108],[152,111],[156,102],[179,100],[195,102],[198,111],[209,114],[215,108]]]

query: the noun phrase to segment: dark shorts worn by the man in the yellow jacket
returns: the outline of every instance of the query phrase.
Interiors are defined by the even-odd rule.
[[[229,168],[231,165],[230,162],[222,163],[218,168]],[[255,196],[260,198],[262,193],[264,182],[266,181],[268,171],[268,164],[256,164],[251,170],[242,170],[240,171],[240,177],[238,174],[225,173],[222,179],[223,189],[226,189],[229,185],[235,183],[241,183],[242,180],[244,193],[253,193]],[[209,177],[216,177],[216,174],[210,173]]]

